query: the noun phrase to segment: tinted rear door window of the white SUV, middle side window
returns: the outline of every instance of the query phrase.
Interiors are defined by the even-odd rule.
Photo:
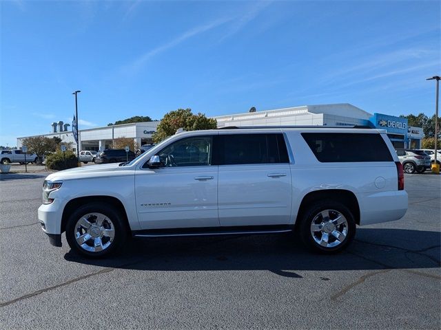
[[[218,135],[214,150],[219,165],[289,163],[282,134]]]

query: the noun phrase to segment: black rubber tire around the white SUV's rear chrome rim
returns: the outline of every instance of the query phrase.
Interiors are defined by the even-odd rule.
[[[343,215],[347,223],[346,227],[344,223],[335,226],[336,231],[341,230],[340,234],[345,231],[343,228],[346,228],[345,238],[342,239],[341,241],[338,240],[336,236],[334,236],[333,234],[329,234],[329,233],[327,234],[329,236],[329,238],[327,239],[327,241],[329,241],[329,245],[336,243],[337,244],[336,246],[325,247],[320,245],[320,243],[318,243],[314,239],[314,237],[316,237],[317,239],[318,238],[317,236],[319,236],[321,232],[315,232],[314,236],[313,233],[311,232],[311,227],[313,225],[314,219],[320,219],[321,212],[322,211],[326,212],[326,210],[329,211],[328,220],[330,221],[336,220],[332,218],[336,214],[340,213]],[[317,223],[316,221],[314,221],[314,225],[316,225]],[[329,222],[329,221],[325,221],[325,218],[322,218],[322,220],[318,220],[318,221]],[[325,200],[325,201],[318,201],[316,203],[311,203],[309,204],[309,206],[307,206],[307,209],[305,210],[305,212],[303,212],[302,216],[300,217],[299,229],[300,229],[300,238],[302,242],[307,246],[307,248],[316,252],[320,252],[322,254],[334,254],[341,252],[342,250],[347,248],[347,246],[351,243],[353,237],[356,234],[356,221],[353,217],[351,210],[349,210],[347,206],[345,206],[344,204],[338,201]]]

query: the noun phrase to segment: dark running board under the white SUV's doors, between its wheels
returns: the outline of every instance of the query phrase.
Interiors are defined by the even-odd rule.
[[[292,232],[292,227],[287,225],[261,226],[263,228],[256,228],[256,226],[249,226],[250,228],[181,228],[174,230],[139,230],[133,232],[135,237],[176,237],[176,236],[220,236],[220,235],[248,235],[248,234],[280,234],[283,232]],[[266,228],[265,228],[266,227]],[[271,226],[272,227],[272,226]]]

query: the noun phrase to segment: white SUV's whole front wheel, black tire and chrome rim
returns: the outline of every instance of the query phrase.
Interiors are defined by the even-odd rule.
[[[66,224],[70,248],[92,258],[112,254],[126,237],[123,215],[107,203],[95,202],[79,207]]]

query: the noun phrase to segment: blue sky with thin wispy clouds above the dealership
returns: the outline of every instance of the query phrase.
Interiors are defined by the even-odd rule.
[[[0,144],[190,107],[434,111],[440,1],[1,1]]]

